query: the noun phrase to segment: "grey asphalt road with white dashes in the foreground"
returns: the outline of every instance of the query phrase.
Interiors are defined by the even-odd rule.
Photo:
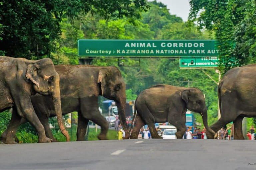
[[[0,145],[0,169],[256,169],[256,141],[133,139]]]

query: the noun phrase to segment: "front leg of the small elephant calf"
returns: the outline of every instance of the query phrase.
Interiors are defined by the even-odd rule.
[[[186,111],[184,113],[177,112],[176,114],[169,113],[168,121],[177,128],[177,132],[175,133],[177,138],[182,139],[186,131]]]

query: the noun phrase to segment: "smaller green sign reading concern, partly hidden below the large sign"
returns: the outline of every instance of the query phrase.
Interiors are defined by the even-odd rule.
[[[180,68],[216,68],[218,57],[180,58]]]

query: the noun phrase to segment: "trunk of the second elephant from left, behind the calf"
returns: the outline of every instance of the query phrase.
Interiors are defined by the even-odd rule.
[[[118,109],[118,116],[120,119],[120,123],[125,131],[125,139],[129,138],[129,131],[127,128],[127,123],[126,123],[126,116],[125,116],[125,105],[126,105],[126,96],[120,98],[119,100],[116,101],[117,103],[117,109]]]

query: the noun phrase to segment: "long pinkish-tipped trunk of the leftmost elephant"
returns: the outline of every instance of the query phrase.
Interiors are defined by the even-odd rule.
[[[55,89],[51,92],[51,94],[52,94],[54,109],[55,109],[56,116],[57,116],[57,121],[58,121],[58,124],[60,127],[60,131],[66,137],[66,140],[70,141],[70,136],[64,126],[64,122],[63,122],[63,118],[62,118],[59,81],[56,81],[56,85],[54,87],[55,87]]]

